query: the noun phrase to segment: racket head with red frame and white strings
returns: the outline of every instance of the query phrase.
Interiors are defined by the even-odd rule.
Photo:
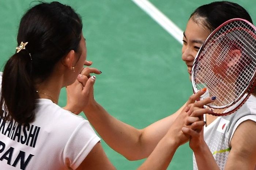
[[[215,29],[199,49],[192,67],[192,87],[206,87],[200,100],[216,96],[208,107],[215,116],[239,109],[255,87],[256,28],[244,19],[226,21]]]

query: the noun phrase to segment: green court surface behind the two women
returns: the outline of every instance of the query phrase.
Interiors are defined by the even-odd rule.
[[[31,0],[0,0],[0,68],[15,52],[19,20],[36,4]],[[46,0],[46,2],[49,2]],[[102,71],[94,85],[95,99],[114,117],[144,128],[166,117],[192,94],[181,44],[131,0],[60,0],[83,19],[87,60]],[[150,0],[181,30],[195,8],[211,0]],[[256,1],[234,0],[256,18]],[[66,102],[65,89],[59,105]],[[102,141],[118,170],[134,170],[144,160],[128,161]],[[168,170],[192,169],[188,144],[178,148]]]

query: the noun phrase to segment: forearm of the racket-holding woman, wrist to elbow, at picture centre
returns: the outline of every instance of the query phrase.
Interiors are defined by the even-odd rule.
[[[83,110],[87,119],[103,140],[115,151],[129,160],[144,156],[141,152],[141,130],[134,128],[111,116],[101,105],[96,103]]]

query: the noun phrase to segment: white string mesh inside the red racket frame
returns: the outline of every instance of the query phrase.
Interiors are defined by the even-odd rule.
[[[214,34],[208,41],[208,48],[205,46],[200,54],[200,64],[195,69],[195,84],[197,89],[207,87],[210,91],[208,95],[217,97],[215,105],[237,102],[236,99],[248,87],[254,75],[256,49],[253,44],[256,42],[250,27],[242,23],[241,28],[240,22],[227,24],[218,34]],[[238,61],[229,54],[235,50],[241,52]],[[230,66],[232,62],[236,62],[234,66]]]

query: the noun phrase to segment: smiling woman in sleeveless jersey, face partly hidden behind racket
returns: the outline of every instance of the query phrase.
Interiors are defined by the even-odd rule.
[[[182,60],[188,67],[190,79],[193,61],[203,42],[218,26],[233,18],[242,18],[252,23],[250,15],[243,7],[229,1],[217,1],[202,5],[191,14],[184,31],[184,43],[182,46]],[[72,91],[71,88],[68,91]],[[252,92],[255,92],[255,89]],[[71,94],[69,92],[70,97]],[[215,98],[213,97],[212,99],[214,100]],[[176,113],[144,129],[136,129],[112,117],[102,106],[94,101],[93,97],[91,97],[89,105],[81,110],[84,111],[88,120],[110,147],[129,160],[138,160],[147,158],[150,155],[166,132],[172,128],[172,124],[177,121],[176,118],[180,111],[187,105],[188,103],[185,103]],[[210,148],[211,152],[206,158],[211,159],[214,156],[214,167],[219,169],[226,167],[226,169],[230,170],[247,170],[255,167],[256,131],[252,130],[256,129],[255,107],[256,97],[255,94],[252,94],[246,103],[233,114],[224,117],[206,114],[206,128],[204,129],[206,143],[203,146],[204,149]],[[191,120],[191,118],[189,119]],[[185,130],[184,133],[192,136],[193,134],[201,134],[199,133],[200,129],[199,131],[193,131],[190,128],[183,128],[183,130]],[[192,134],[192,132],[195,133]],[[198,140],[201,143],[204,139],[200,136]],[[191,147],[194,151],[197,151],[195,148],[198,145],[193,146],[198,143],[196,139],[191,140]],[[195,152],[195,154],[196,158],[198,158],[198,155],[203,156],[204,152]],[[196,160],[194,157],[193,165],[195,170],[197,169],[197,163],[205,165],[208,160]],[[201,169],[210,169],[210,167],[201,166]]]

